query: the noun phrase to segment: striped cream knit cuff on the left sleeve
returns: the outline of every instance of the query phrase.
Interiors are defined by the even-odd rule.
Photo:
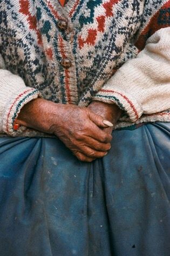
[[[21,108],[29,101],[38,98],[39,92],[35,88],[31,87],[22,87],[9,99],[6,104],[5,112],[2,120],[2,129],[5,133],[10,136],[17,136],[21,134],[26,127],[21,126],[17,131],[13,129],[13,123],[17,118]]]

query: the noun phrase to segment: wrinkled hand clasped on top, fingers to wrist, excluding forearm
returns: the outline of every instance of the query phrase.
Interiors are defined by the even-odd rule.
[[[60,138],[81,161],[91,162],[106,155],[112,136],[99,127],[106,127],[103,118],[85,107],[58,105],[52,133]]]

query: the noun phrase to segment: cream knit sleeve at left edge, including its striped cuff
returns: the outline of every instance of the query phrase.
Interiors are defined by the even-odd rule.
[[[16,136],[22,132],[25,127],[15,131],[13,122],[21,108],[38,95],[39,92],[35,88],[26,87],[22,78],[5,69],[0,55],[0,133]]]

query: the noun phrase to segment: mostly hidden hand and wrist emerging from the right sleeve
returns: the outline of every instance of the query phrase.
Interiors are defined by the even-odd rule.
[[[115,104],[107,104],[101,101],[92,101],[88,108],[113,124],[113,127],[103,129],[108,134],[111,134],[117,120],[121,116],[122,110]]]

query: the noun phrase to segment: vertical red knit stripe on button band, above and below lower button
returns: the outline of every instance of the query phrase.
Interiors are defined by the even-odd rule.
[[[65,50],[64,50],[64,43],[61,36],[59,36],[59,47],[60,52],[62,54],[62,58],[65,58]],[[70,71],[69,69],[65,69],[65,88],[66,88],[66,97],[69,104],[71,104],[71,95],[70,95]]]

